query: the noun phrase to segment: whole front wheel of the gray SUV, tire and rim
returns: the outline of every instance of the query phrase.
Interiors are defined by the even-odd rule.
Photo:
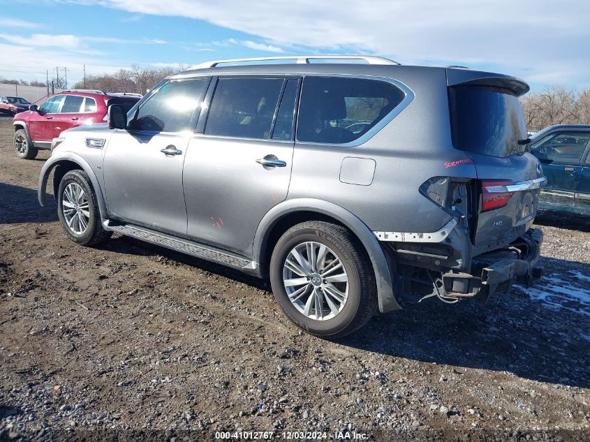
[[[99,244],[112,235],[103,229],[96,194],[86,172],[71,170],[61,178],[57,194],[57,216],[73,242]]]

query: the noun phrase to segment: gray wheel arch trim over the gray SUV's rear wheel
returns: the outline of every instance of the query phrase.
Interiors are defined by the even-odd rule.
[[[253,259],[260,263],[263,275],[268,274],[270,256],[276,241],[288,228],[303,221],[327,221],[351,230],[371,260],[377,283],[379,311],[401,309],[394,296],[394,281],[397,281],[394,263],[383,252],[377,238],[366,224],[344,207],[332,202],[300,198],[281,202],[267,212],[258,225],[253,242]]]

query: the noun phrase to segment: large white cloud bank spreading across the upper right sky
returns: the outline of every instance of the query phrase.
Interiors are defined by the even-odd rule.
[[[436,60],[497,66],[525,80],[590,85],[590,2],[250,0],[247,7],[242,0],[84,3],[207,20],[258,36],[274,48],[381,54],[404,64]]]

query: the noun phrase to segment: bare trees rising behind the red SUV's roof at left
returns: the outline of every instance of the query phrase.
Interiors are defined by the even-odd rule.
[[[98,89],[105,92],[135,92],[145,94],[160,80],[168,75],[182,71],[186,67],[172,68],[143,68],[139,65],[132,65],[130,69],[119,69],[119,71],[100,75],[87,75],[86,84],[84,81],[74,84],[75,89]]]

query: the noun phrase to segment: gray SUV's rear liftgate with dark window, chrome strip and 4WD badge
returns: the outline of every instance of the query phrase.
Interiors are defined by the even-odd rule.
[[[526,152],[517,91],[502,86],[449,89],[453,144],[473,160],[479,179],[472,203],[477,221],[470,226],[476,253],[506,246],[532,225],[544,180],[538,160]]]

